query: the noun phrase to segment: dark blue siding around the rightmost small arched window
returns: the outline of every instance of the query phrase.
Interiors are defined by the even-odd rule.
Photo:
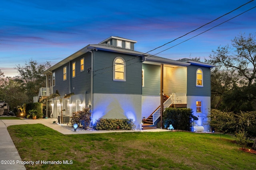
[[[203,71],[203,87],[196,86],[196,70]],[[211,70],[208,67],[190,65],[188,66],[188,88],[187,96],[211,96]]]

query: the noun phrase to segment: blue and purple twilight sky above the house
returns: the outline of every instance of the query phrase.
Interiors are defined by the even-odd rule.
[[[0,5],[0,70],[15,76],[16,65],[30,59],[52,65],[88,44],[110,36],[138,41],[135,50],[148,52],[250,0],[2,0]],[[164,47],[156,54],[252,7],[246,6]],[[256,33],[256,8],[202,35],[166,50],[169,59],[207,58],[240,33]]]

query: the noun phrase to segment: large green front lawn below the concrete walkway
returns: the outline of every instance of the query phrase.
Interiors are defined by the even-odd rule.
[[[42,124],[8,131],[26,165],[47,170],[240,170],[256,169],[256,154],[238,150],[229,135],[189,132],[128,132],[62,135]],[[63,163],[70,163],[64,164]]]

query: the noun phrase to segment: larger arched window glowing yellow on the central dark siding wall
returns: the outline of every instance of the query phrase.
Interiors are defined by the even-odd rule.
[[[113,80],[125,81],[125,61],[121,57],[114,59]]]

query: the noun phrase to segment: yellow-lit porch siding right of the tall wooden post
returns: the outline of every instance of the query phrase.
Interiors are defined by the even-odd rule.
[[[187,92],[187,68],[164,66],[164,94]]]

